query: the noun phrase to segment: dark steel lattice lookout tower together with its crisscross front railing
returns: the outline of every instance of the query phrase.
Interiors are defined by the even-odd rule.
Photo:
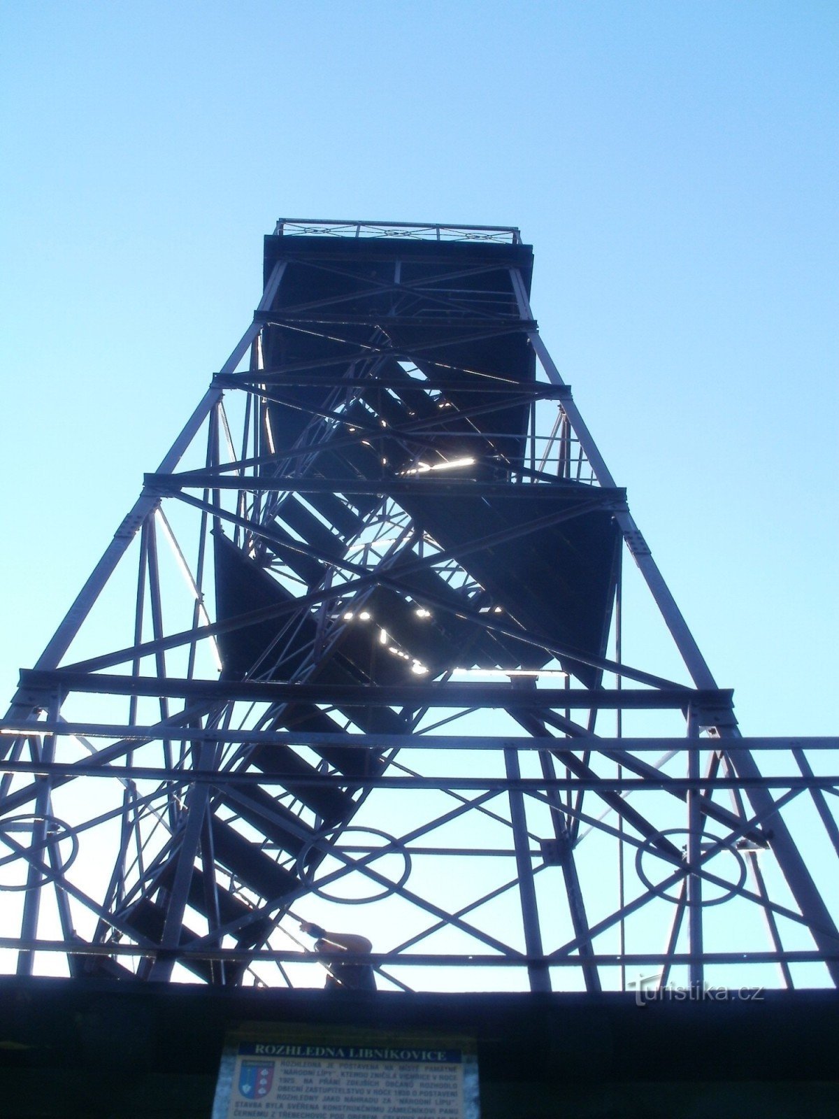
[[[531,265],[507,228],[265,238],[2,724],[10,967],[319,986],[302,915],[368,935],[383,989],[839,979],[837,741],[741,737]]]

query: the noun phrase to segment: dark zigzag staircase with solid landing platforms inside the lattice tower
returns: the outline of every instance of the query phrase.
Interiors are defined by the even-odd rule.
[[[518,267],[529,282],[527,246],[270,237],[265,258],[266,275],[277,258],[285,272],[262,367],[226,383],[255,401],[249,469],[264,499],[243,468],[246,517],[215,519],[221,680],[355,690],[267,707],[260,741],[224,759],[248,781],[214,791],[199,854],[181,855],[185,812],[116,913],[124,933],[160,943],[182,857],[180,946],[200,935],[191,911],[245,953],[307,892],[365,782],[386,772],[395,751],[365,736],[412,732],[412,685],[558,661],[597,687],[621,546],[609,493],[528,451],[546,386],[510,278]],[[388,524],[397,539],[362,563]],[[428,562],[442,556],[447,566]],[[366,702],[381,686],[404,688],[405,703]],[[331,737],[301,749],[294,732]],[[236,982],[246,961],[186,966]]]

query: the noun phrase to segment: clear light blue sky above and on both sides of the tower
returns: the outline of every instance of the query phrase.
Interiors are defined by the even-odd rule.
[[[247,325],[277,216],[498,223],[744,731],[836,731],[838,4],[0,23],[0,689]]]

